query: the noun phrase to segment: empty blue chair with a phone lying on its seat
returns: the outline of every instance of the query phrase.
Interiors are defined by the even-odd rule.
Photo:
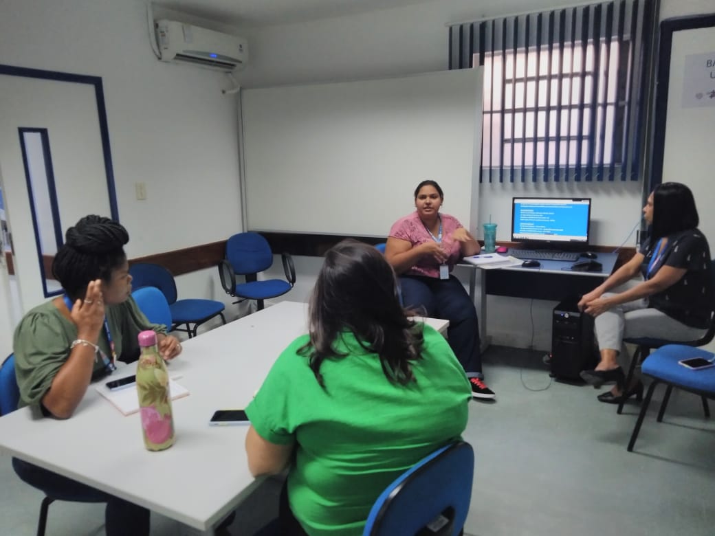
[[[666,412],[674,387],[698,394],[703,402],[705,416],[710,417],[708,399],[715,399],[715,367],[692,370],[679,364],[681,359],[688,357],[702,357],[709,361],[715,360],[715,354],[711,354],[711,352],[707,352],[704,349],[693,348],[685,344],[668,344],[657,349],[644,362],[642,372],[651,377],[653,382],[651,382],[646,393],[646,399],[643,401],[636,427],[633,428],[631,440],[628,442],[628,452],[633,452],[633,446],[636,445],[638,432],[641,431],[641,425],[646,416],[646,411],[648,411],[648,405],[651,403],[651,397],[653,397],[656,385],[660,383],[664,383],[668,387],[663,397],[663,402],[661,402],[661,409],[658,412],[658,422],[663,421],[663,415]]]

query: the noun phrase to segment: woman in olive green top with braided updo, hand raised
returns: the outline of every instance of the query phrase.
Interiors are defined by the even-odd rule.
[[[166,327],[150,324],[132,299],[127,242],[122,225],[99,216],[84,217],[67,230],[52,262],[64,296],[32,309],[15,330],[19,405],[37,406],[47,417],[71,417],[92,379],[111,372],[118,357],[136,358],[137,335],[144,329],[157,332],[164,359],[181,352],[179,341],[166,334]],[[50,497],[107,502],[108,536],[149,534],[144,507],[16,458],[13,467]]]

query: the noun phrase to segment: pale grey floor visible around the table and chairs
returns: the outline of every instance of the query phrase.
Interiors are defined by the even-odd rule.
[[[537,352],[492,347],[485,372],[497,401],[471,402],[464,434],[475,450],[469,535],[715,533],[715,419],[704,419],[697,397],[675,392],[659,424],[656,391],[629,453],[635,402],[616,415],[593,388],[551,382]],[[0,482],[0,535],[33,535],[41,494],[15,477],[7,456],[0,456]],[[279,490],[279,482],[267,482],[228,532],[253,535],[275,515]],[[56,503],[46,534],[102,535],[102,506]],[[152,515],[152,534],[193,532]]]

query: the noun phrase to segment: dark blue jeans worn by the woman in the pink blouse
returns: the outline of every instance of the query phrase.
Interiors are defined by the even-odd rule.
[[[425,316],[449,320],[449,345],[468,377],[482,377],[479,349],[479,322],[469,294],[459,280],[400,277],[405,307],[423,311]]]

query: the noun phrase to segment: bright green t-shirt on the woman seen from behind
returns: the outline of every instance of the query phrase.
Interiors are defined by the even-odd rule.
[[[424,327],[416,382],[390,382],[377,354],[342,334],[325,359],[325,389],[297,350],[285,349],[246,408],[265,440],[296,443],[288,475],[290,507],[311,536],[361,535],[370,508],[390,482],[426,455],[457,440],[467,425],[471,389],[464,370],[433,328]]]

